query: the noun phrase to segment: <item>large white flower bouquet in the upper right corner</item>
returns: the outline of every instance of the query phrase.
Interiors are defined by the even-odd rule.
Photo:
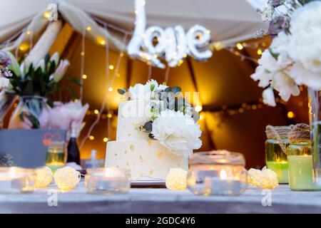
[[[275,38],[251,78],[266,88],[263,101],[275,106],[272,89],[287,101],[300,85],[321,88],[321,2],[269,0],[263,14],[266,9],[272,9],[268,33]]]

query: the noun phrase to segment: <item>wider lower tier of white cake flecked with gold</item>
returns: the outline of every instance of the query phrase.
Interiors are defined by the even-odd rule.
[[[128,168],[132,180],[165,180],[171,168],[188,170],[188,158],[168,152],[157,140],[121,140],[107,143],[105,167]]]

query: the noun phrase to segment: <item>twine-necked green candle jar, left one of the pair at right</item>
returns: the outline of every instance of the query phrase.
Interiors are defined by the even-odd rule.
[[[277,174],[280,184],[287,184],[287,138],[292,126],[266,127],[267,140],[265,141],[265,158],[267,168]]]

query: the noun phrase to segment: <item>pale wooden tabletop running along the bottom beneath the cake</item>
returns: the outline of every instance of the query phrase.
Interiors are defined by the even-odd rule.
[[[87,194],[81,182],[76,190],[56,191],[58,205],[49,207],[48,199],[54,199],[51,190],[57,188],[0,194],[0,213],[321,213],[321,192],[291,192],[287,185],[271,192],[250,187],[240,197],[198,197],[188,190],[166,189],[131,189],[126,195],[103,196]],[[269,195],[272,206],[263,207],[263,197]]]

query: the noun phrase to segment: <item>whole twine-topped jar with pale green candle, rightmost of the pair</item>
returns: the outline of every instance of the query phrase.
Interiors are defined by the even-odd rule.
[[[290,145],[287,147],[289,184],[292,191],[321,190],[313,182],[310,126],[295,125],[289,133]]]

